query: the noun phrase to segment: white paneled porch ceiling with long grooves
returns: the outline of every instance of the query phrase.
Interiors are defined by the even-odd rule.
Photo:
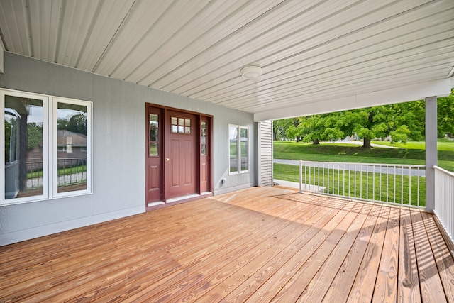
[[[454,0],[0,0],[0,34],[11,53],[297,115],[452,77]]]

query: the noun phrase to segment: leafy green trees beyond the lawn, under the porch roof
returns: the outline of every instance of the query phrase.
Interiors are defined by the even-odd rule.
[[[438,98],[438,137],[454,136],[454,89],[448,97]],[[365,109],[302,116],[274,121],[275,140],[280,138],[313,142],[337,141],[349,136],[363,140],[370,148],[373,139],[392,142],[421,141],[425,132],[425,102],[373,106]]]

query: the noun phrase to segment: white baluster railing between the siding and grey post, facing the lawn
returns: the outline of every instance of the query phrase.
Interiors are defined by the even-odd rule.
[[[426,166],[299,161],[299,192],[426,206]]]

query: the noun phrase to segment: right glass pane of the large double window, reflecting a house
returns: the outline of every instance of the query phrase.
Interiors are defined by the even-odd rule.
[[[57,104],[57,192],[87,189],[87,106]],[[65,150],[65,151],[63,151]]]

